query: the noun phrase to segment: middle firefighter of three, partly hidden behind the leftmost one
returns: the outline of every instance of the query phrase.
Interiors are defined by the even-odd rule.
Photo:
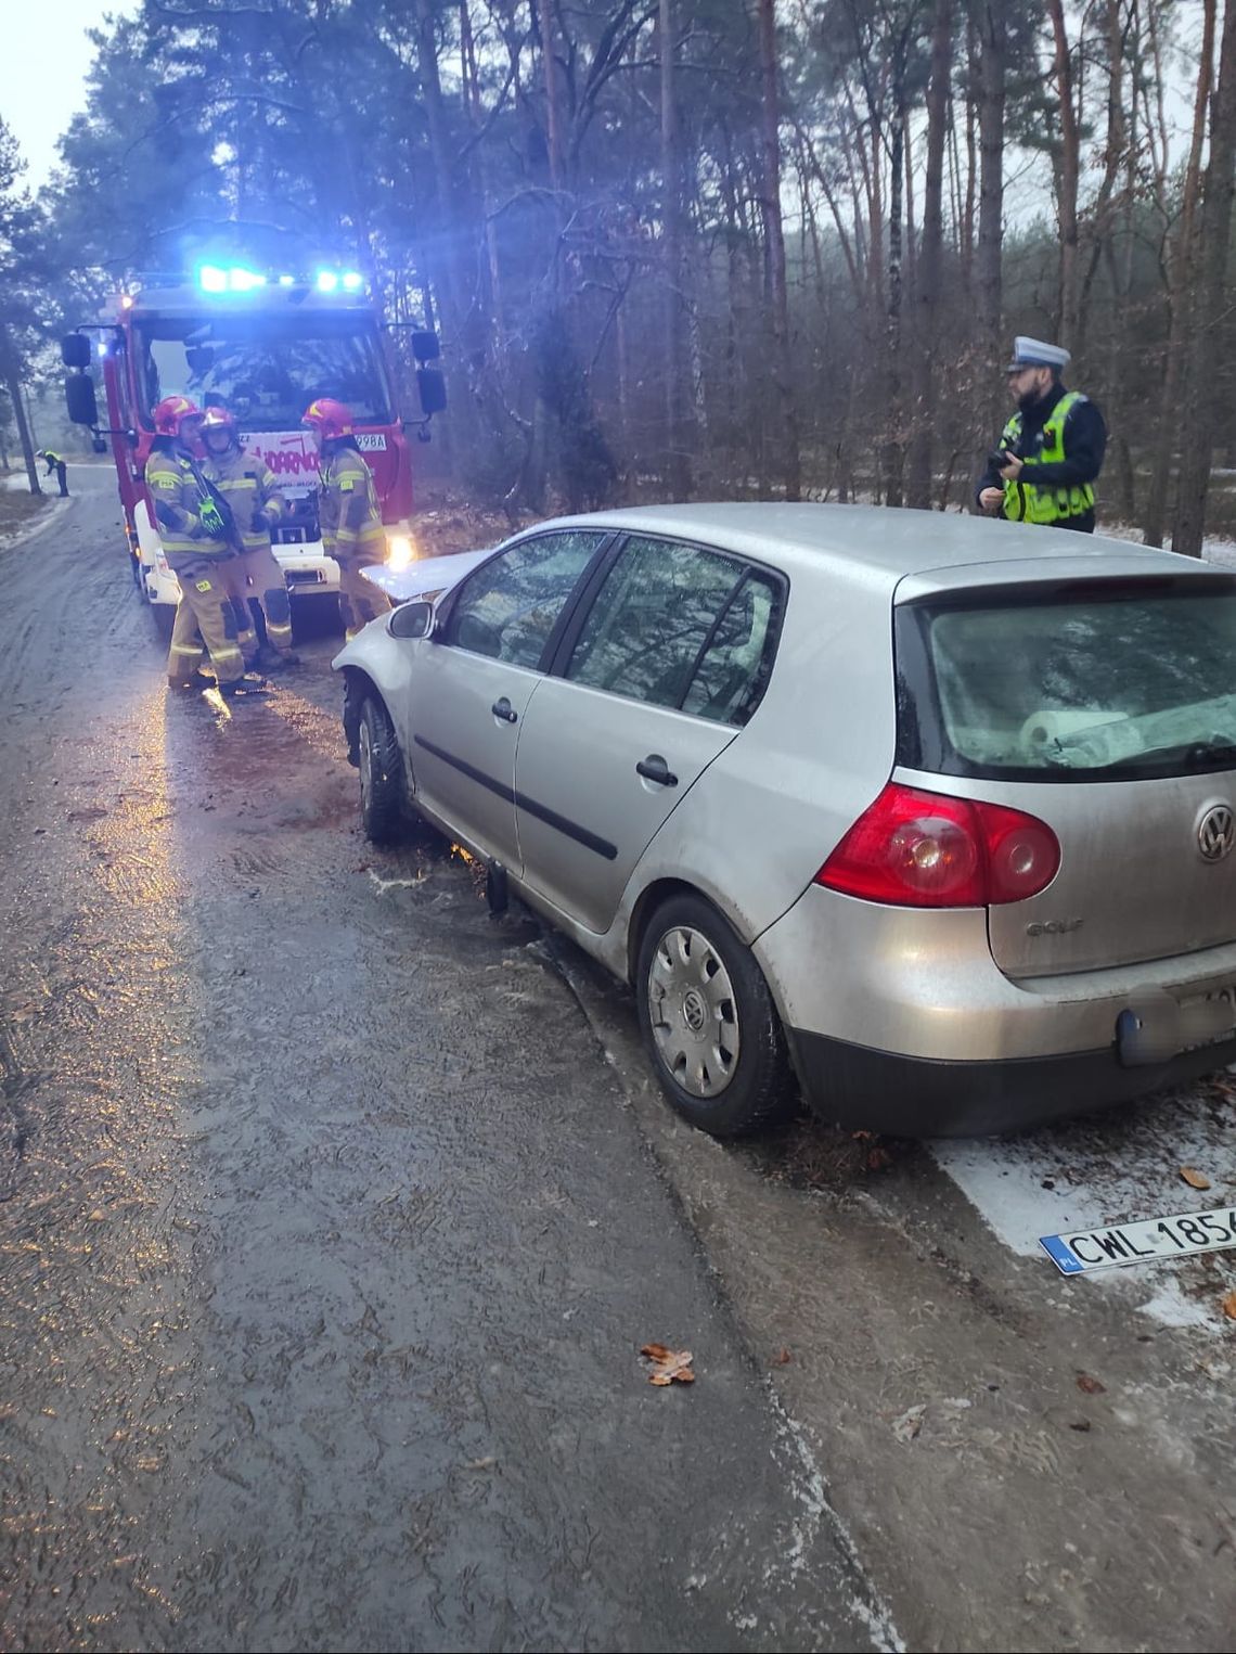
[[[263,672],[279,672],[299,665],[292,653],[292,610],[283,569],[271,551],[271,528],[283,513],[283,495],[274,471],[258,455],[246,453],[240,442],[235,417],[221,405],[208,407],[202,415],[203,471],[231,506],[245,549],[236,564],[233,600],[248,617],[253,604],[266,622],[266,642],[254,650],[246,665]]]

